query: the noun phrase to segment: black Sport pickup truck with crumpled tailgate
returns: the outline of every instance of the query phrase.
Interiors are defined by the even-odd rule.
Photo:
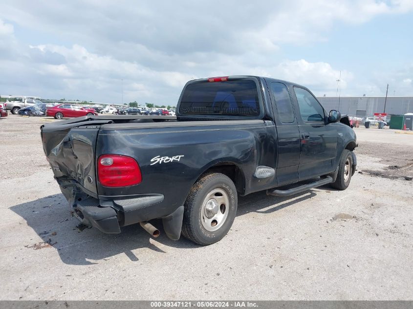
[[[176,117],[85,116],[44,124],[43,149],[73,216],[105,233],[160,218],[167,236],[222,239],[238,195],[344,190],[356,167],[348,117],[305,87],[257,76],[188,82]]]

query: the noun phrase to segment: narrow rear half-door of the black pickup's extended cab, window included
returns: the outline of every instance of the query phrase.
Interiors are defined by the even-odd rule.
[[[277,181],[286,185],[299,180],[300,132],[288,88],[282,82],[269,88],[278,135]]]

